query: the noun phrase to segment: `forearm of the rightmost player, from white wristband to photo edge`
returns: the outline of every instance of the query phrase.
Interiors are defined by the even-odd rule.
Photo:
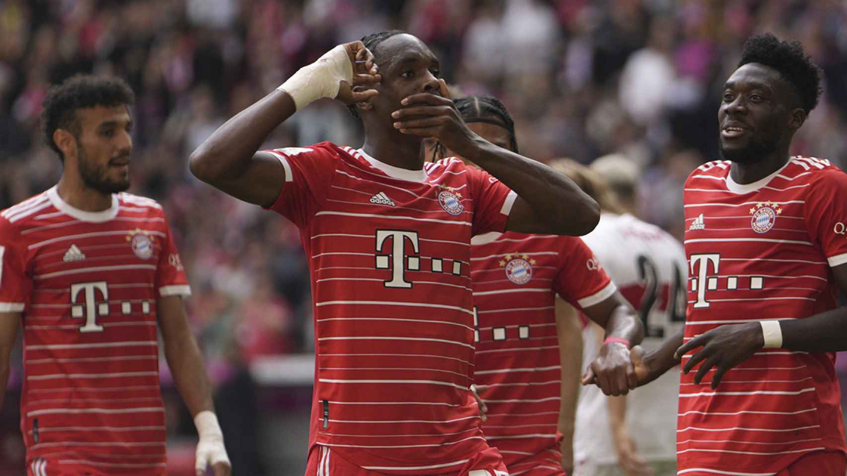
[[[805,352],[847,350],[847,306],[805,319],[780,320],[783,348]]]

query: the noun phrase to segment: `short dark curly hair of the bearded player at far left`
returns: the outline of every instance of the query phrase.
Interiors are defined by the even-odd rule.
[[[65,79],[61,85],[53,85],[47,90],[47,96],[42,102],[44,142],[64,161],[62,150],[53,141],[53,133],[56,129],[67,129],[78,138],[82,130],[79,118],[76,117],[77,109],[129,106],[135,102],[136,95],[124,79],[76,74]]]

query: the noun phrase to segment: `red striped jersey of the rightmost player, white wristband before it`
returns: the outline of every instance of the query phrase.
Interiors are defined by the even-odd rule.
[[[685,339],[723,324],[803,319],[836,307],[830,268],[847,263],[847,175],[826,160],[792,157],[766,178],[739,184],[731,167],[707,162],[685,183]],[[717,391],[714,369],[699,386],[695,371],[683,375],[680,471],[773,474],[811,451],[847,452],[834,360],[833,353],[762,349],[728,370]]]

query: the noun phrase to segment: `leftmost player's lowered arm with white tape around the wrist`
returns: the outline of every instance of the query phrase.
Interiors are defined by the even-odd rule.
[[[159,330],[164,341],[164,355],[174,375],[176,388],[197,424],[197,469],[205,471],[211,463],[215,476],[230,473],[230,459],[224,449],[224,435],[214,416],[212,390],[200,348],[191,334],[182,297],[159,298],[157,303]]]

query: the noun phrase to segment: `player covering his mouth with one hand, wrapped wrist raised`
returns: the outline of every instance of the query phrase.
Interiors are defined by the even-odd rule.
[[[198,178],[301,229],[317,353],[310,476],[505,471],[469,391],[471,236],[584,234],[598,219],[594,200],[561,173],[473,134],[439,69],[429,48],[401,31],[340,45],[191,155]],[[361,149],[259,150],[320,97],[355,106]],[[425,137],[492,175],[459,160],[424,165]],[[627,365],[618,360],[604,375]]]

